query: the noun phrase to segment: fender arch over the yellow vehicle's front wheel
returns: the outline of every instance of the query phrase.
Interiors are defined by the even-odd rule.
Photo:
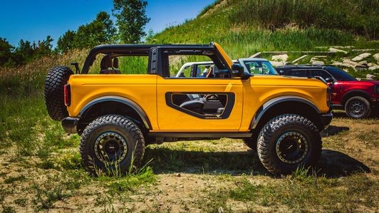
[[[261,108],[259,108],[251,120],[250,129],[259,131],[271,118],[274,118],[276,115],[289,113],[302,115],[311,120],[318,130],[323,130],[323,124],[319,118],[321,114],[320,110],[310,100],[296,95],[273,98],[261,105]]]

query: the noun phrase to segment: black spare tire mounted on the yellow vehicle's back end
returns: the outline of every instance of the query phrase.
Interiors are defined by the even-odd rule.
[[[73,74],[71,68],[66,66],[56,66],[48,71],[45,80],[45,103],[53,120],[62,120],[68,116],[64,103],[64,85]]]

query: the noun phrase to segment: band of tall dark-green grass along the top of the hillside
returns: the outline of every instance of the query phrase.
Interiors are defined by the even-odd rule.
[[[335,28],[378,38],[379,2],[375,0],[234,0],[237,6],[229,20],[234,23],[283,28]]]

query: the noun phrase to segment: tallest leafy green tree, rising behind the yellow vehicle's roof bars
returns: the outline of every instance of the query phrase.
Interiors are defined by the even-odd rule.
[[[113,0],[113,15],[116,17],[118,33],[123,43],[139,43],[150,18],[147,18],[144,0]]]

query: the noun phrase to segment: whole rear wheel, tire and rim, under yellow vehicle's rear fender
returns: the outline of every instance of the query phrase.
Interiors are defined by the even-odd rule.
[[[140,128],[121,115],[93,120],[81,135],[83,165],[93,175],[121,175],[138,167],[145,152]]]

